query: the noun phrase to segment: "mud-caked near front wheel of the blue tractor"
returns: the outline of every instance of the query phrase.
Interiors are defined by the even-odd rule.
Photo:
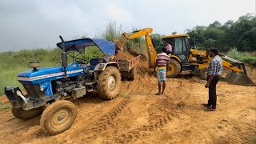
[[[47,134],[58,134],[68,130],[77,116],[74,103],[60,100],[50,104],[42,113],[40,125]]]

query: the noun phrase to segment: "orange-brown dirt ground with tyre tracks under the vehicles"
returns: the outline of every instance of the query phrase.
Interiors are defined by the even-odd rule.
[[[38,118],[22,121],[0,111],[0,143],[254,143],[256,87],[217,85],[218,106],[206,112],[205,82],[197,76],[168,78],[166,92],[155,95],[158,83],[146,64],[133,82],[122,82],[118,98],[96,94],[74,101],[78,117],[70,130],[50,136]],[[247,67],[256,82],[256,69]],[[0,102],[7,102],[0,97]]]

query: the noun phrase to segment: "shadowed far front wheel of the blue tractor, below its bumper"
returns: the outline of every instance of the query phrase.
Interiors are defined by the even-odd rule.
[[[28,120],[42,114],[42,107],[34,108],[31,110],[23,110],[21,107],[13,107],[11,113],[18,119]]]

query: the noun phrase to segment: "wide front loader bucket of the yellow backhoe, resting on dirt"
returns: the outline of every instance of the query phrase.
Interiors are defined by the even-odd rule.
[[[237,73],[233,70],[229,70],[225,79],[234,85],[256,86],[256,84],[246,74]]]

